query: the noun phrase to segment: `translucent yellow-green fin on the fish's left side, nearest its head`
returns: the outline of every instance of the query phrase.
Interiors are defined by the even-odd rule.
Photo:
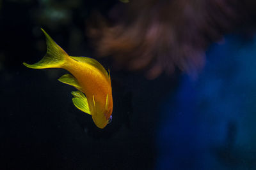
[[[89,109],[88,101],[84,94],[80,91],[71,92],[71,94],[74,96],[72,99],[74,105],[77,107],[77,109],[83,111],[84,113],[88,113],[89,115],[92,115]]]

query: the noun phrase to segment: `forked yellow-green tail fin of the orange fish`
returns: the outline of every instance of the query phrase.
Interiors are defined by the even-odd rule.
[[[41,28],[42,29],[42,28]],[[65,63],[65,59],[68,57],[68,54],[58,46],[53,39],[42,29],[45,34],[47,52],[42,60],[36,62],[35,64],[23,64],[26,67],[32,69],[45,69],[45,68],[61,68]]]

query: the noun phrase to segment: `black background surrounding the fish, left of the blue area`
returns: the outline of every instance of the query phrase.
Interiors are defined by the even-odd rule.
[[[152,169],[156,160],[157,103],[173,78],[148,81],[111,69],[113,121],[98,129],[72,104],[66,71],[28,69],[45,52],[40,27],[67,53],[95,57],[85,36],[93,10],[116,1],[1,1],[1,169]],[[61,17],[62,16],[62,17]],[[157,89],[157,90],[156,90]]]

